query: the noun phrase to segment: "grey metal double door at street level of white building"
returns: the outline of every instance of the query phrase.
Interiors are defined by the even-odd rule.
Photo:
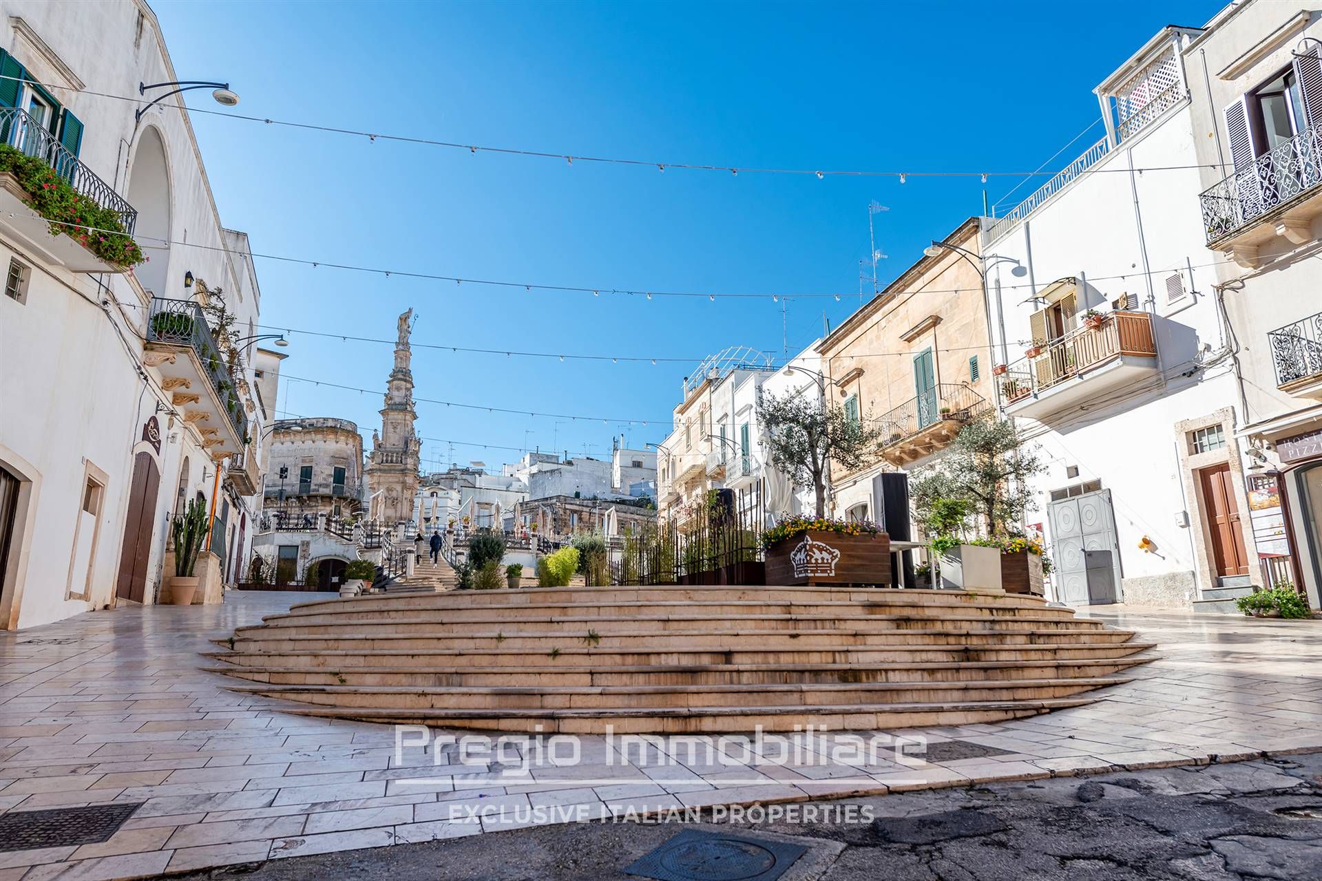
[[[1118,602],[1120,546],[1110,490],[1052,502],[1047,518],[1056,598],[1071,606]]]

